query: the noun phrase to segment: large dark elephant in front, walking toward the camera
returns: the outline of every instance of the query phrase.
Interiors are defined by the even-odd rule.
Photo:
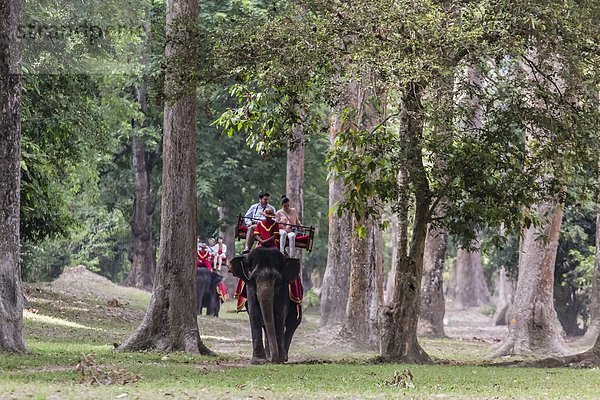
[[[302,321],[299,301],[292,301],[288,286],[300,273],[300,260],[281,254],[278,248],[257,247],[247,256],[231,260],[231,272],[246,284],[252,331],[252,364],[283,363],[296,328]],[[268,350],[263,344],[263,327]]]

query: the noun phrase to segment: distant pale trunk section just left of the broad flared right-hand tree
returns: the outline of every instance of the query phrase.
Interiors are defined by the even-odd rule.
[[[454,273],[454,300],[460,307],[478,307],[490,302],[479,251],[458,249]]]

